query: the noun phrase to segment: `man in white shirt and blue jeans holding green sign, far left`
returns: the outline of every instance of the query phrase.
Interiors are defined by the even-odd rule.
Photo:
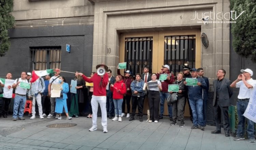
[[[14,81],[12,88],[15,89],[15,98],[14,98],[14,104],[13,104],[13,121],[18,120],[25,120],[23,117],[24,109],[25,109],[25,103],[26,103],[26,94],[27,90],[26,88],[20,87],[20,82],[29,83],[26,79],[27,74],[26,72],[21,73],[21,78],[18,78]],[[18,112],[19,109],[19,112]]]

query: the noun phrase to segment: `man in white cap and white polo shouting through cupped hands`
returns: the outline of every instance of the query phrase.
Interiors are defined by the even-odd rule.
[[[244,140],[244,126],[245,117],[243,116],[249,99],[253,93],[253,88],[256,86],[256,80],[252,79],[253,71],[251,69],[241,70],[242,74],[238,75],[238,78],[232,82],[231,88],[240,88],[237,101],[237,115],[238,115],[238,129],[237,136],[234,140]],[[254,135],[254,122],[252,120],[247,120],[247,134],[250,142],[255,142]]]

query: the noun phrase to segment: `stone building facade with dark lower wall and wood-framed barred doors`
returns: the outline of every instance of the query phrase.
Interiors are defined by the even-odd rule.
[[[104,63],[116,74],[118,63],[127,61],[133,73],[144,65],[158,72],[164,64],[177,73],[188,64],[202,67],[212,84],[218,69],[225,69],[229,77],[230,24],[221,22],[229,21],[223,17],[230,12],[229,4],[229,0],[14,0],[12,46],[0,60],[8,66],[0,75],[19,76],[38,67],[35,49],[60,49],[55,55],[61,57],[59,67],[65,71],[89,75]],[[202,18],[207,15],[205,24]],[[202,46],[202,33],[208,36],[207,48]],[[70,53],[66,44],[71,45]],[[53,62],[47,63],[42,67],[53,67]]]

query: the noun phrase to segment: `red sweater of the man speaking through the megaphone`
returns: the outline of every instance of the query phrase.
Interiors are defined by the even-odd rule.
[[[106,96],[106,86],[109,82],[108,74],[105,73],[103,78],[101,78],[97,73],[95,73],[91,78],[88,78],[85,75],[82,75],[82,77],[86,82],[93,82],[93,95]]]

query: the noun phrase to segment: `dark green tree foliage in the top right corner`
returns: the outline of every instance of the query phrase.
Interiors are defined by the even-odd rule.
[[[237,54],[256,62],[256,0],[230,0],[230,8],[238,15],[245,11],[232,24],[233,48]]]

